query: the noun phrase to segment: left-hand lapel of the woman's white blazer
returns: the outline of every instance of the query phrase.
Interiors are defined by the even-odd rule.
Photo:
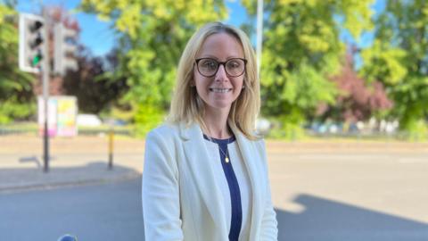
[[[212,220],[218,225],[218,230],[221,230],[221,237],[227,237],[226,234],[226,214],[221,208],[223,200],[221,199],[220,190],[215,181],[214,173],[211,168],[211,163],[208,162],[208,154],[202,130],[197,124],[190,127],[180,125],[181,137],[184,139],[185,161],[190,167],[190,172],[193,175],[193,180],[202,196],[203,202],[206,204]]]

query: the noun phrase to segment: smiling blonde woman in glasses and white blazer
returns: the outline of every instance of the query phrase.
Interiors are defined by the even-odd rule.
[[[169,121],[146,138],[145,240],[276,240],[250,41],[215,22],[185,46]]]

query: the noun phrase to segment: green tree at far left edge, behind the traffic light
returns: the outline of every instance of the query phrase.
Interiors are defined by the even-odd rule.
[[[0,3],[0,124],[25,120],[36,111],[35,77],[18,67],[18,12]]]

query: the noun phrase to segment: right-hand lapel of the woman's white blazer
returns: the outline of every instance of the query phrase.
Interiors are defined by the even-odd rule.
[[[259,171],[257,169],[256,163],[260,162],[259,160],[255,160],[255,158],[258,158],[258,154],[256,154],[256,150],[254,144],[251,142],[251,140],[247,139],[247,137],[244,137],[241,131],[238,129],[232,129],[232,131],[235,134],[235,138],[237,141],[237,144],[239,146],[239,150],[241,151],[241,154],[243,155],[243,162],[245,163],[245,167],[248,171],[248,176],[250,177],[251,182],[251,192],[252,192],[252,209],[251,209],[251,231],[250,231],[250,238],[251,240],[257,240],[258,239],[258,220],[260,220],[262,217],[262,201],[261,201],[261,194],[260,194],[260,184],[259,184]]]

